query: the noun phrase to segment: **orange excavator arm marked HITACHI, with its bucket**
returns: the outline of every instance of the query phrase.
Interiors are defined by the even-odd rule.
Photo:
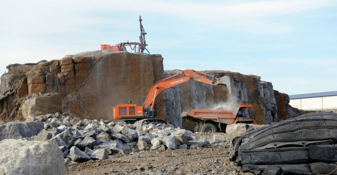
[[[182,76],[180,76],[182,75]],[[180,77],[178,77],[180,76]],[[172,79],[174,78],[174,79]],[[176,86],[178,84],[190,81],[199,81],[206,84],[211,85],[218,85],[223,84],[227,87],[230,87],[230,78],[228,76],[224,76],[222,78],[215,78],[214,75],[208,75],[207,73],[203,73],[196,70],[183,70],[181,73],[177,73],[175,75],[172,75],[168,78],[162,79],[158,81],[155,85],[153,85],[146,97],[146,100],[143,104],[144,108],[147,108],[148,106],[151,106],[151,111],[153,110],[154,104],[155,104],[155,98],[156,96],[163,90]],[[229,90],[227,88],[227,90]],[[229,90],[230,92],[230,90]]]

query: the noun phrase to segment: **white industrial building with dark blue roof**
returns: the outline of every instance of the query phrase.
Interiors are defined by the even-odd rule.
[[[289,95],[289,99],[289,105],[298,109],[337,113],[337,91]]]

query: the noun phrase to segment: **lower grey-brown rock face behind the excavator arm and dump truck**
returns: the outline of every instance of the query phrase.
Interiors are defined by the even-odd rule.
[[[163,78],[181,72],[180,70],[165,70]],[[251,104],[245,109],[248,117],[257,120],[258,124],[276,122],[300,114],[289,105],[287,94],[273,89],[270,82],[261,81],[255,75],[243,75],[230,71],[204,71],[207,74],[231,77],[231,94],[222,86],[212,86],[200,82],[189,81],[165,90],[165,117],[176,126],[193,130],[194,123],[182,121],[180,115],[189,109],[234,110],[237,104]]]

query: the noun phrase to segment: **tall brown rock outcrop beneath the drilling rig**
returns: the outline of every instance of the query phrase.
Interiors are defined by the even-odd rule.
[[[93,51],[40,64],[9,65],[1,76],[0,118],[24,120],[19,111],[31,104],[24,102],[26,97],[55,92],[62,97],[63,112],[111,120],[114,105],[142,105],[148,89],[161,79],[162,60],[160,55]]]

